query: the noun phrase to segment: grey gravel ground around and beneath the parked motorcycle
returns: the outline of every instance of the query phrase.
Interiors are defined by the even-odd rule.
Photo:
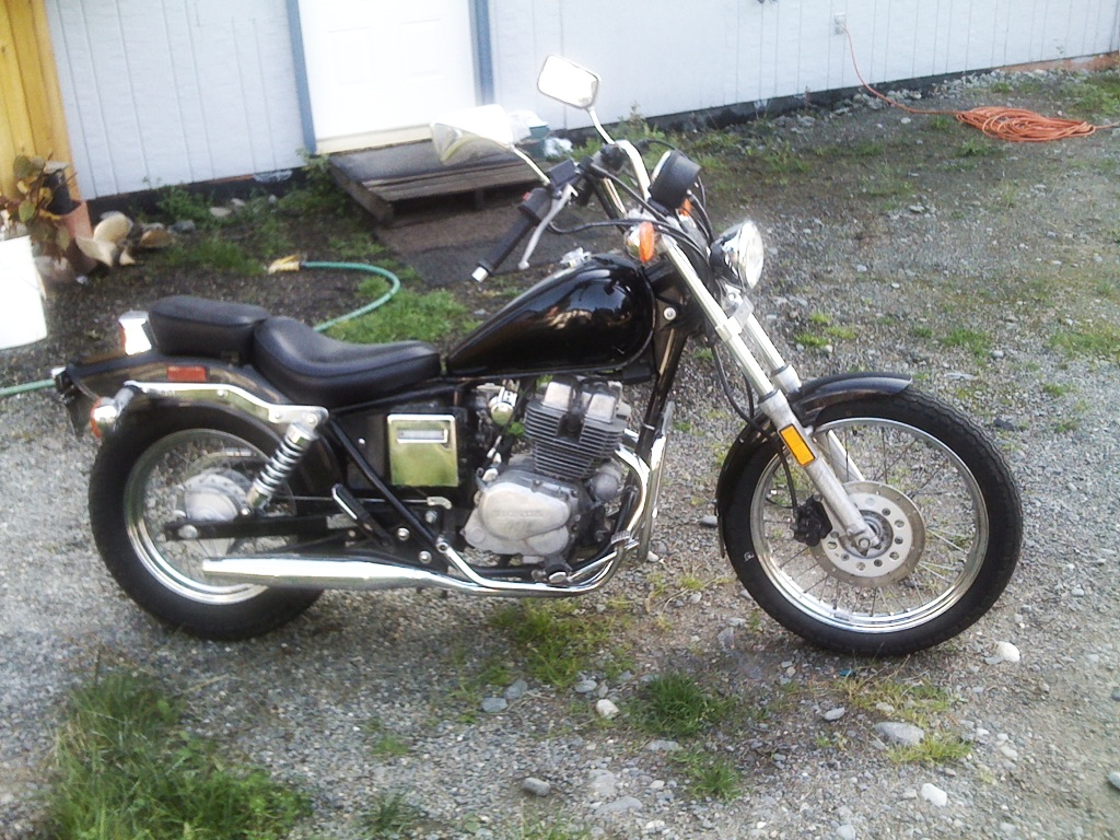
[[[955,84],[922,104],[1053,113],[1081,84],[1028,81],[998,95]],[[694,354],[659,559],[582,603],[617,610],[612,599],[627,599],[627,672],[588,673],[584,692],[541,685],[488,623],[501,605],[433,592],[328,594],[264,638],[199,642],[118,591],[85,514],[94,445],[69,436],[48,395],[15,396],[0,402],[0,837],[34,831],[67,690],[118,662],[187,692],[198,728],[310,791],[301,837],[358,837],[358,814],[386,792],[423,809],[431,838],[525,837],[538,820],[610,838],[1120,837],[1109,782],[1120,772],[1120,137],[997,146],[866,103],[773,130],[776,140],[741,137],[741,149],[769,143],[750,159],[765,177],[711,200],[725,221],[749,212],[764,227],[762,316],[786,346],[824,330],[824,316],[830,344],[796,354],[804,374],[908,371],[989,429],[1019,480],[1023,560],[984,619],[934,651],[871,662],[809,647],[762,616],[702,524],[737,429]],[[795,158],[811,170],[787,166]],[[720,172],[709,171],[712,186]],[[448,224],[405,220],[385,239],[411,259],[400,243],[438,244]],[[1090,343],[1076,336],[1101,340],[1077,349]],[[685,577],[703,587],[674,586]],[[998,661],[1000,643],[1017,662]],[[528,684],[486,712],[486,696],[508,687],[461,688],[494,659],[511,685]],[[765,710],[734,738],[703,738],[743,773],[739,796],[697,800],[668,745],[627,725],[642,678],[670,671]],[[899,715],[858,708],[852,680],[936,688],[950,702],[926,728],[963,737],[971,754],[890,760],[877,725]],[[601,698],[622,717],[601,721]],[[379,757],[371,721],[408,753]],[[529,792],[526,778],[544,784]]]

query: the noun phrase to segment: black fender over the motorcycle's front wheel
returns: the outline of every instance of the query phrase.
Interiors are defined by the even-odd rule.
[[[889,396],[905,391],[913,380],[898,373],[839,373],[822,376],[804,383],[790,394],[790,407],[804,426],[815,426],[816,418],[824,409],[843,402],[852,402],[866,396]],[[719,519],[720,539],[724,539],[724,523],[727,521],[727,505],[731,488],[747,463],[758,449],[773,447],[776,432],[769,419],[757,413],[754,422],[744,427],[724,458],[716,485],[716,514]]]

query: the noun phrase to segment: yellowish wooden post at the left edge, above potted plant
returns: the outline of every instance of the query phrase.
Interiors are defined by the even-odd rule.
[[[73,160],[44,0],[0,4],[0,192],[15,194],[17,155]]]

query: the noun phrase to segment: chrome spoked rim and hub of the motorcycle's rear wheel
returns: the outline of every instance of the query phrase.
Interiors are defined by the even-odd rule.
[[[189,515],[225,521],[268,460],[242,438],[212,429],[188,429],[161,438],[137,460],[124,485],[124,521],[140,562],[175,595],[209,605],[246,601],[265,590],[250,584],[222,584],[202,570],[204,560],[256,552],[282,540],[177,540],[168,524]],[[290,505],[290,494],[280,505]]]

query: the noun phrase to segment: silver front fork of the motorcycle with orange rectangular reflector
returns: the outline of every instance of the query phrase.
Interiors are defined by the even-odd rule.
[[[758,407],[778,429],[790,449],[790,454],[797,464],[805,470],[805,475],[812,482],[813,487],[820,493],[824,507],[833,523],[839,524],[843,532],[860,548],[871,544],[871,533],[864,520],[859,508],[856,507],[843,483],[837,476],[832,464],[846,464],[853,466],[843,451],[839,440],[830,438],[828,452],[822,452],[816,441],[812,438],[812,429],[803,426],[790,407],[786,394],[801,386],[801,380],[796,371],[785,363],[777,347],[771,342],[769,336],[763,330],[754,315],[748,315],[740,324],[735,318],[729,318],[724,312],[724,307],[708,291],[700,276],[692,268],[688,256],[680,246],[666,236],[661,237],[663,252],[669,256],[673,267],[684,279],[692,292],[693,298],[704,310],[708,321],[715,327],[716,334],[730,351],[736,364],[747,377],[750,386],[759,394],[763,394]],[[774,371],[777,388],[771,382],[769,376],[755,358],[750,347],[744,340],[744,333],[750,339],[758,352],[758,355]],[[787,437],[788,436],[788,437]],[[800,444],[797,441],[800,439]],[[796,450],[791,447],[791,441],[796,446]],[[802,449],[802,446],[804,447]],[[839,458],[839,460],[837,460]],[[850,476],[850,470],[848,473]]]

